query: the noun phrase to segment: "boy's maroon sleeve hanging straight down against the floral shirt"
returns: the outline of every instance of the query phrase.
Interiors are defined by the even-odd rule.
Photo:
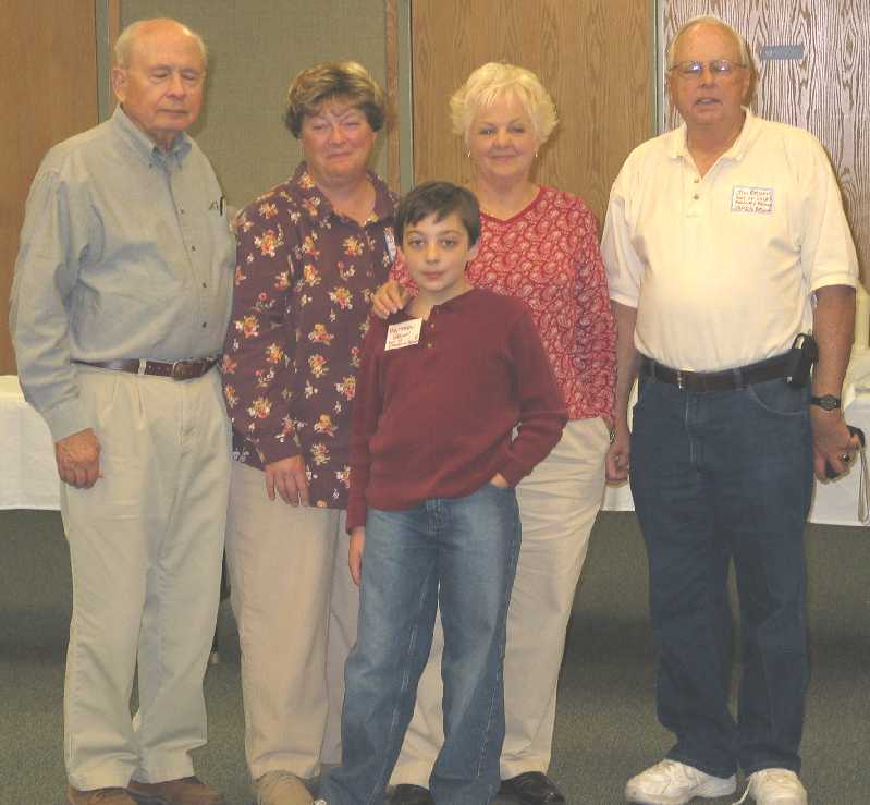
[[[383,347],[387,326],[369,317],[369,330],[363,342],[363,357],[356,375],[354,413],[351,430],[351,491],[347,500],[348,534],[366,524],[366,488],[368,487],[369,439],[378,426],[381,412],[381,392],[378,382],[379,355]]]

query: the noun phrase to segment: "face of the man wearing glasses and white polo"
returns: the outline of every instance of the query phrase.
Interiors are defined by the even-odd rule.
[[[687,77],[678,70],[667,73],[667,92],[677,111],[691,130],[716,129],[730,132],[743,121],[742,105],[751,80],[747,68],[735,66],[730,75],[714,75],[709,62],[726,59],[740,63],[740,48],[732,34],[719,26],[700,23],[679,37],[674,64],[703,62],[699,76]]]

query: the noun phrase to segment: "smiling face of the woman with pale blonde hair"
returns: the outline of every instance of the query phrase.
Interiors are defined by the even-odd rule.
[[[539,145],[531,120],[513,93],[497,97],[471,120],[468,150],[483,181],[528,180]]]

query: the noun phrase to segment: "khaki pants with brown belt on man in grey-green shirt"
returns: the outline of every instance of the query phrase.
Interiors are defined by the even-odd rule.
[[[206,742],[230,479],[220,376],[77,371],[102,477],[61,489],[73,578],[66,772],[84,790],[186,777]]]

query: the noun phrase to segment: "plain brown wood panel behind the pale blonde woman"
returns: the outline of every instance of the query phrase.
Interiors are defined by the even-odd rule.
[[[412,0],[415,182],[469,181],[448,100],[504,60],[534,70],[559,112],[537,181],[603,218],[625,157],[653,133],[652,29],[649,0]]]

